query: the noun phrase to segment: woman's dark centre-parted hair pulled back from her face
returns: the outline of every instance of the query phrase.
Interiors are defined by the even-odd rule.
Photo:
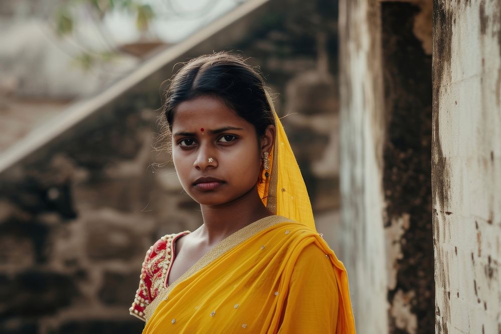
[[[240,56],[227,52],[204,55],[186,63],[173,76],[165,92],[162,114],[171,132],[175,108],[180,103],[213,96],[253,124],[261,137],[267,126],[274,124],[265,89],[262,76]]]

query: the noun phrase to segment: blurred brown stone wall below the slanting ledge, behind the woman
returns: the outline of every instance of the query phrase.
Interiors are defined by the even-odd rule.
[[[275,3],[290,10],[266,12],[260,30],[225,50],[253,57],[279,113],[292,114],[284,126],[336,250],[337,4]],[[159,87],[171,75],[167,64],[0,175],[0,332],[141,330],[128,308],[145,251],[201,223],[168,154],[152,149]]]

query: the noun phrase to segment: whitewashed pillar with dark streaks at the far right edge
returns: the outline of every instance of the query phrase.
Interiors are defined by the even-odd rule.
[[[501,1],[434,1],[436,332],[501,332]]]

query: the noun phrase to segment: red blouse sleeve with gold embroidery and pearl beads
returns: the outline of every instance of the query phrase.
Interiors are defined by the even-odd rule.
[[[158,295],[163,278],[167,275],[173,255],[173,243],[178,237],[188,233],[190,232],[182,231],[174,234],[166,234],[146,251],[139,275],[139,287],[136,290],[134,301],[129,308],[131,315],[146,321],[144,310]]]

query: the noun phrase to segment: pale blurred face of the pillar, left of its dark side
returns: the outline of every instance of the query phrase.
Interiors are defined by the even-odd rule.
[[[382,188],[381,13],[376,1],[339,2],[342,243],[360,333],[387,333]]]

